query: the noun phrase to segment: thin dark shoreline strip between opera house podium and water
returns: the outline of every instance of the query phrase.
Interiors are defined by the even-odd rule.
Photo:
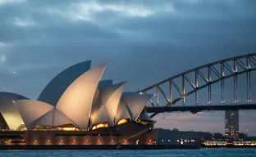
[[[199,145],[24,145],[24,146],[0,146],[0,150],[181,150],[200,149]]]

